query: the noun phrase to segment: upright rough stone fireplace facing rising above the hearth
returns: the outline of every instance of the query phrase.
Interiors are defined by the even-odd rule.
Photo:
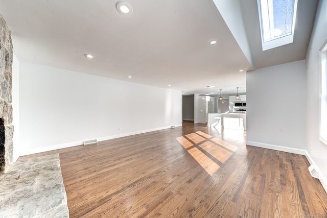
[[[4,120],[5,144],[0,147],[0,172],[6,172],[13,162],[12,136],[14,127],[12,125],[12,58],[13,46],[11,31],[0,14],[0,118]]]

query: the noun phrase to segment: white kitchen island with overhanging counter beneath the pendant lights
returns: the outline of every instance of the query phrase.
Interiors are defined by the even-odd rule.
[[[207,126],[246,130],[246,113],[209,113]]]

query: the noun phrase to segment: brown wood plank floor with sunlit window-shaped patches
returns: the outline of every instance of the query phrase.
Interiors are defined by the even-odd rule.
[[[306,157],[245,140],[183,123],[53,152],[70,217],[327,217]]]

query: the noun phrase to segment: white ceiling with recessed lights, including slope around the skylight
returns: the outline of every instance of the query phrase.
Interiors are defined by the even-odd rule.
[[[305,59],[318,0],[298,0],[294,43],[265,52],[256,0],[224,1],[240,7],[235,16],[245,37],[226,25],[234,11],[219,11],[213,0],[126,0],[131,15],[116,11],[119,0],[1,0],[0,14],[19,61],[185,94],[246,92],[246,70]],[[217,44],[209,44],[213,39]]]

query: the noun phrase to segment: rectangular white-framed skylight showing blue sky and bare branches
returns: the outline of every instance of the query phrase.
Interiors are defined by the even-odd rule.
[[[293,42],[297,0],[258,0],[262,50]]]

